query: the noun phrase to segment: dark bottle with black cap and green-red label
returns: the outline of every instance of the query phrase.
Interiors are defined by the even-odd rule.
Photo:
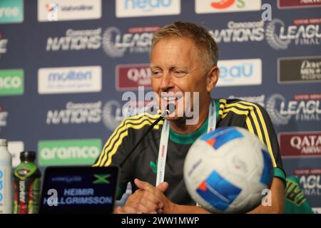
[[[20,153],[21,163],[14,171],[14,214],[39,212],[41,172],[36,163],[36,152]]]

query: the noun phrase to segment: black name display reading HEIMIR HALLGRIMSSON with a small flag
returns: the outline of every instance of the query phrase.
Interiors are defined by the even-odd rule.
[[[46,167],[39,214],[111,214],[119,168]]]

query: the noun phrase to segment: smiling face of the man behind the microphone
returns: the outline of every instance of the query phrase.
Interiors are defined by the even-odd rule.
[[[168,120],[185,118],[187,108],[193,110],[193,92],[199,93],[199,104],[208,96],[205,59],[198,53],[189,38],[167,38],[158,41],[151,52],[151,84],[158,94],[161,108],[175,103],[175,117]],[[162,95],[163,92],[183,94],[183,96]],[[185,92],[190,92],[190,98]],[[163,93],[164,94],[164,93]],[[195,100],[198,102],[198,100]],[[183,105],[183,107],[181,107]],[[201,108],[201,107],[200,107]],[[163,110],[162,109],[162,110]],[[182,111],[183,110],[183,117]],[[198,113],[194,113],[194,115]]]

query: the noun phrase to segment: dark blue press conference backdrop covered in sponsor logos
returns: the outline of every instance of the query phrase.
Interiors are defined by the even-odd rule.
[[[92,164],[151,90],[153,32],[173,21],[207,27],[220,48],[215,98],[263,105],[287,175],[321,208],[321,2],[300,0],[1,0],[0,138],[14,165]],[[137,108],[123,113],[123,92]],[[152,170],[151,170],[152,172]],[[302,202],[302,194],[292,200]]]

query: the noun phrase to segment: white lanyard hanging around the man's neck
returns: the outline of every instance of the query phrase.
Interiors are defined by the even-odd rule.
[[[208,133],[215,130],[215,126],[216,126],[216,105],[215,105],[215,100],[212,99],[210,101],[210,108],[208,110]],[[168,120],[164,120],[164,125],[161,133],[161,142],[158,150],[156,186],[164,182],[169,132],[170,132],[170,125],[168,123]]]

